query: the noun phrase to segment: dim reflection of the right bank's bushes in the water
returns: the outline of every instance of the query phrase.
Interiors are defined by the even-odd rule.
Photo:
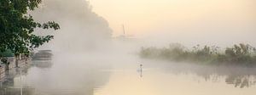
[[[173,74],[195,74],[205,81],[224,81],[234,87],[254,87],[256,83],[256,68],[240,66],[212,66],[201,64],[163,64],[164,70]]]

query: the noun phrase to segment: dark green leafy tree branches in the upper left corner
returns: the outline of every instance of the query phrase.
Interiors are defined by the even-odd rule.
[[[0,1],[0,51],[11,50],[12,53],[30,53],[53,36],[37,36],[36,28],[60,29],[54,21],[44,24],[35,22],[27,11],[38,8],[41,0],[1,0]]]

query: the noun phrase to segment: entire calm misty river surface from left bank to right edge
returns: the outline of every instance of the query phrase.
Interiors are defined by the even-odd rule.
[[[22,87],[33,95],[253,95],[256,69],[213,67],[92,53],[32,61]],[[86,58],[86,59],[85,59]],[[90,58],[90,59],[88,59]],[[99,59],[101,58],[101,59]],[[142,71],[140,64],[143,64]],[[14,78],[20,87],[20,76]],[[20,95],[20,94],[19,94]]]

